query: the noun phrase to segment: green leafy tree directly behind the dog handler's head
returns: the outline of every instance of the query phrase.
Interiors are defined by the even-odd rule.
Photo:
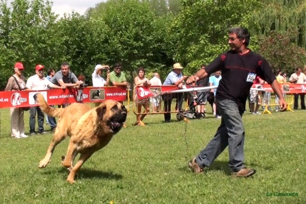
[[[173,33],[179,38],[176,60],[187,66],[184,74],[193,74],[201,64],[228,50],[227,30],[238,25],[248,27],[249,12],[257,6],[257,0],[183,0]]]

